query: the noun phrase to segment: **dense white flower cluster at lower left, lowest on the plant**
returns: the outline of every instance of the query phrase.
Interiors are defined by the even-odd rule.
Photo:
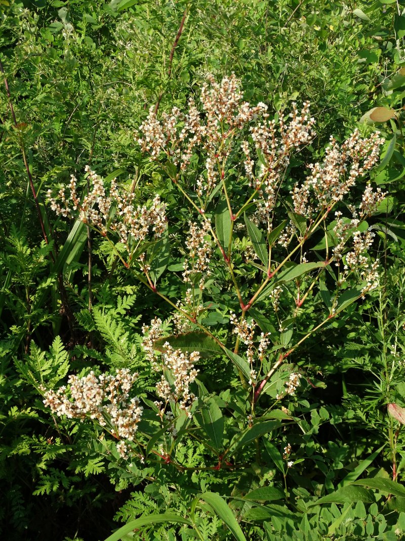
[[[117,439],[133,441],[143,412],[139,398],[130,398],[137,378],[127,368],[117,369],[116,374],[70,375],[68,387],[46,391],[43,402],[59,417],[94,419]],[[119,442],[117,450],[126,456],[125,441]]]

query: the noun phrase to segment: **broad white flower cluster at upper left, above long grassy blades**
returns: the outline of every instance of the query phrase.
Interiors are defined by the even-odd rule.
[[[166,227],[166,204],[156,195],[152,204],[135,206],[134,194],[125,190],[120,191],[116,179],[112,180],[109,194],[106,193],[104,180],[86,166],[91,183],[90,192],[80,201],[77,195],[77,179],[71,175],[69,195],[64,188],[59,190],[57,197],[52,197],[48,190],[51,209],[58,215],[72,216],[76,213],[80,220],[96,227],[102,235],[110,229],[118,233],[120,241],[131,252],[133,242],[142,241],[148,234],[160,237]]]

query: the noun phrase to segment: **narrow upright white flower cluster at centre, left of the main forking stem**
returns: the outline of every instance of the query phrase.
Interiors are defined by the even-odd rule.
[[[211,243],[205,239],[210,232],[210,221],[204,220],[202,227],[199,227],[195,222],[189,222],[188,225],[190,226],[186,240],[188,258],[184,260],[183,264],[183,280],[186,283],[190,283],[191,275],[201,273],[199,288],[202,291],[205,286],[205,278],[211,273],[208,267],[212,252]]]

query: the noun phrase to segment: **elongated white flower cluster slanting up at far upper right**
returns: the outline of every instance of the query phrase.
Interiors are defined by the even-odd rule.
[[[383,142],[379,133],[362,139],[358,130],[341,146],[334,137],[330,137],[323,163],[310,164],[311,175],[301,186],[296,184],[294,187],[295,212],[311,218],[314,213],[323,213],[331,204],[341,201],[355,185],[356,179],[377,162]],[[380,192],[377,190],[375,196],[368,194],[369,202],[363,197],[364,212],[372,211],[374,203],[381,199]],[[311,193],[315,197],[310,201]]]

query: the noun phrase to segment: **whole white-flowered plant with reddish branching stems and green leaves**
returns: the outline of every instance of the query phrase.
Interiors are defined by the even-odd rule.
[[[358,130],[341,144],[331,137],[323,161],[302,175],[294,155],[308,152],[314,126],[308,102],[271,115],[266,104],[244,101],[234,75],[220,83],[208,77],[200,104],[191,99],[185,113],[173,107],[160,119],[151,107],[137,136],[187,205],[187,228],[172,222],[174,208],[162,195],[140,204],[134,184],[125,190],[113,180],[107,188],[90,168],[82,199],[74,176],[69,191],[49,193],[52,209],[100,233],[171,315],[165,325],[156,317],[143,326],[145,358],[160,377],[154,400],[141,393],[129,400],[136,378],[118,371],[71,377],[69,388],[45,392],[46,406],[95,420],[119,440],[124,459],[157,460],[181,472],[192,469],[178,459],[181,441],[204,449],[199,469],[233,471],[246,467],[240,452],[254,441],[260,456],[264,437],[286,481],[301,459],[291,459],[284,437],[281,453],[267,434],[299,424],[294,397],[301,382],[314,386],[310,363],[299,365],[293,354],[379,281],[366,219],[385,194],[368,183],[357,199],[356,183],[376,163],[383,139]],[[177,298],[164,287],[170,272]],[[311,321],[307,304],[316,307]],[[215,328],[218,315],[225,329]],[[233,363],[220,396],[204,384],[206,358]],[[145,408],[154,414],[147,430]]]

